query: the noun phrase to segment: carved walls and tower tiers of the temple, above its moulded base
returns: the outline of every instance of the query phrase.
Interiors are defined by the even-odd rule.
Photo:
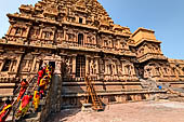
[[[65,69],[66,78],[78,80],[137,81],[142,76],[184,81],[184,60],[168,59],[155,31],[139,28],[131,33],[114,24],[96,0],[42,0],[8,16],[11,26],[0,39],[0,78],[25,78],[37,73],[42,62],[55,62],[56,73]],[[2,71],[5,59],[11,63]]]

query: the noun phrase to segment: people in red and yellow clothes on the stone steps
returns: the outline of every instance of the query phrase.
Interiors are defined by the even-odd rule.
[[[12,110],[12,106],[17,103],[18,110],[16,111],[15,117],[24,117],[27,111],[29,110],[29,105],[31,105],[35,108],[35,111],[39,108],[40,99],[42,99],[43,96],[45,96],[45,91],[51,82],[52,73],[53,73],[53,67],[51,65],[44,64],[43,67],[41,67],[38,71],[38,81],[35,83],[35,86],[32,89],[34,95],[30,93],[30,81],[26,81],[26,79],[23,79],[19,84],[19,93],[17,96],[17,99],[14,101],[11,101],[10,99],[5,100],[4,105],[0,109],[0,122],[5,122],[5,119],[10,114],[10,111]]]

